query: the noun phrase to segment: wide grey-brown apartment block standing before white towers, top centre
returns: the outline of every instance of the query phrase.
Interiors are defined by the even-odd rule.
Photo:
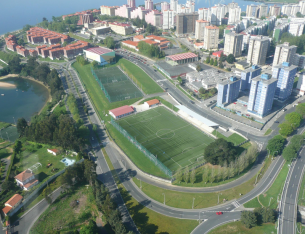
[[[194,33],[196,28],[196,20],[198,13],[181,13],[176,15],[176,34]]]

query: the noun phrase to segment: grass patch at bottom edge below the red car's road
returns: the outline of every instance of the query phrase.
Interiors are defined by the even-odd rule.
[[[276,232],[273,223],[264,223],[261,226],[248,229],[240,221],[236,221],[217,227],[209,234],[274,234]]]

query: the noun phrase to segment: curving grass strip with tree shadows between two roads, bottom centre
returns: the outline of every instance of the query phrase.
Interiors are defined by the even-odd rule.
[[[145,234],[189,234],[198,225],[197,220],[176,219],[154,212],[138,203],[120,183],[112,163],[103,150],[107,164],[119,187],[126,207],[140,233]]]

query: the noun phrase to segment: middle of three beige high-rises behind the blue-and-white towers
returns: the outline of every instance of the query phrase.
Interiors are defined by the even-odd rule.
[[[247,63],[253,65],[264,65],[267,51],[269,49],[269,38],[257,36],[250,39]]]

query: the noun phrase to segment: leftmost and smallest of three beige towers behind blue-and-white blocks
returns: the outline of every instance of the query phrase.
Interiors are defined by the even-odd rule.
[[[223,53],[225,55],[233,54],[234,57],[241,56],[243,35],[234,32],[227,33]]]

